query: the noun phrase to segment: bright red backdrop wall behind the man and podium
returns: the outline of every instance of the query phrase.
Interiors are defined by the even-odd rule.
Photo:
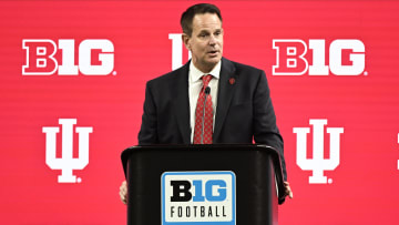
[[[172,49],[168,35],[181,32],[180,16],[193,3],[0,2],[1,224],[125,223],[125,206],[117,194],[124,178],[120,154],[137,143],[145,82],[172,69],[172,53],[178,45]],[[215,3],[224,17],[224,55],[265,70],[269,81],[294,191],[294,200],[279,207],[280,224],[398,224],[399,3],[360,0]],[[64,39],[74,40],[74,48],[60,47]],[[83,74],[88,70],[80,58],[88,57],[84,48],[88,44],[82,43],[93,39],[108,40],[113,47],[113,50],[93,51],[89,48],[91,65],[101,67],[101,55],[113,59],[113,62],[105,60],[113,67],[110,71],[103,68],[105,75]],[[309,49],[309,41],[315,39],[325,40],[325,48],[317,48],[317,51],[325,49],[325,53],[315,59],[325,55],[326,65],[331,63],[330,52],[336,51],[334,41],[358,40],[365,51],[357,53],[349,42],[338,51],[342,52],[340,59],[334,60],[350,68],[356,64],[351,55],[365,55],[365,60],[360,59],[365,63],[364,68],[359,65],[361,72],[355,75],[336,75],[330,71],[327,75],[309,75],[308,71],[301,75],[273,73],[273,65],[286,62],[287,53],[280,51],[277,60],[274,40],[301,40]],[[74,60],[71,62],[81,72],[22,74],[23,65],[33,67],[39,59],[35,48],[31,47],[30,53],[23,49],[23,40],[53,41],[58,64],[66,63],[62,57],[66,49],[74,50],[70,54],[74,59],[69,59]],[[50,51],[51,43],[47,44]],[[103,48],[104,43],[96,47]],[[314,53],[315,48],[305,55],[310,65],[315,63]],[[297,69],[305,63],[297,55],[291,59],[298,63]],[[183,61],[186,60],[184,50]],[[57,69],[47,57],[44,61],[43,70]],[[45,164],[47,137],[42,130],[58,126],[61,131],[59,119],[76,119],[75,126],[93,129],[89,164],[73,171],[79,183],[58,183],[61,171]],[[310,119],[325,119],[326,127],[344,129],[336,143],[340,153],[338,166],[324,172],[328,182],[321,184],[309,183],[311,171],[304,171],[297,164],[295,127],[310,129],[307,158],[314,158]],[[332,154],[326,129],[323,134],[321,167]],[[79,136],[73,136],[73,154],[78,157]],[[61,132],[57,140],[57,156],[61,157]]]

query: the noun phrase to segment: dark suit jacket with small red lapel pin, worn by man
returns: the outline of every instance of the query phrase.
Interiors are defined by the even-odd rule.
[[[140,145],[191,144],[188,68],[190,62],[147,82]],[[278,150],[287,180],[283,137],[265,72],[222,58],[213,143],[253,141]]]

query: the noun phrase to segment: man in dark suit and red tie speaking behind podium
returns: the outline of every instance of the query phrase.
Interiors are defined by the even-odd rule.
[[[275,147],[287,172],[265,72],[223,58],[222,14],[214,4],[190,7],[181,18],[192,53],[182,68],[146,84],[139,144],[255,143]],[[286,194],[293,197],[288,182]],[[126,182],[120,188],[126,203]]]

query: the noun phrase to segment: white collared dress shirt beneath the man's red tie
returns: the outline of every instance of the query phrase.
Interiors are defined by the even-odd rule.
[[[213,78],[208,84],[211,88],[212,96],[212,108],[213,108],[213,127],[215,127],[215,115],[216,115],[216,105],[217,105],[217,88],[221,74],[222,60],[215,65],[215,68],[208,72],[203,73],[197,68],[195,68],[193,61],[190,62],[188,71],[188,98],[190,98],[190,126],[191,126],[191,142],[193,143],[194,139],[194,126],[195,126],[195,109],[200,95],[200,91],[203,86],[202,76],[211,74]]]

